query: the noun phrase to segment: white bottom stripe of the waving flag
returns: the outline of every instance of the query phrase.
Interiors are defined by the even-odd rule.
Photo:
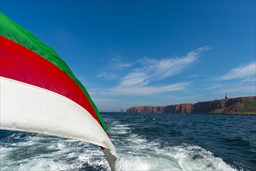
[[[0,77],[0,128],[30,131],[115,148],[87,110],[58,93]]]

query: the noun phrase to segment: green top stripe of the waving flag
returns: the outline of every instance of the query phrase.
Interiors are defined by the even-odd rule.
[[[23,47],[30,49],[30,51],[33,51],[36,54],[39,54],[42,58],[45,58],[47,61],[50,61],[52,64],[56,65],[71,79],[73,79],[80,89],[82,89],[82,92],[86,94],[86,97],[89,99],[89,103],[93,106],[96,116],[99,118],[104,131],[107,132],[107,127],[100,116],[99,110],[93,103],[93,100],[90,98],[86,88],[82,86],[82,83],[75,77],[65,61],[63,61],[51,47],[43,44],[39,39],[37,39],[37,37],[33,35],[33,33],[30,33],[28,30],[25,30],[23,27],[19,26],[19,24],[13,22],[2,12],[0,12],[0,35],[16,42],[17,44],[23,45]]]

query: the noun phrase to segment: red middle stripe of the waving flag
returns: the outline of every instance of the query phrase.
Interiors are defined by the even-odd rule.
[[[65,72],[12,40],[0,36],[0,43],[0,76],[61,94],[86,109],[100,124],[89,99]]]

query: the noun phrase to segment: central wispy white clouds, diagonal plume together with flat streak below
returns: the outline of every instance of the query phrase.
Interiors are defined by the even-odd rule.
[[[169,78],[184,72],[189,65],[192,65],[199,58],[203,51],[209,50],[208,46],[200,47],[195,51],[191,51],[181,58],[141,58],[137,63],[123,63],[119,58],[113,58],[111,65],[120,67],[131,67],[132,65],[140,65],[134,68],[128,74],[124,75],[117,86],[110,89],[101,89],[100,96],[150,96],[167,92],[175,92],[186,89],[191,82],[166,83],[161,86],[151,86],[150,83],[157,84],[161,79]],[[114,68],[114,67],[113,67]],[[116,68],[118,69],[118,67]],[[98,75],[103,77],[106,75]]]

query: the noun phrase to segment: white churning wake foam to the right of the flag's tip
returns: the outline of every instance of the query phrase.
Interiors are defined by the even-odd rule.
[[[111,128],[115,135],[122,134],[113,127],[116,126],[112,124]],[[122,130],[132,132],[129,131],[132,127],[123,125]],[[157,141],[147,141],[132,133],[121,138],[121,146],[117,147],[118,170],[236,170],[223,159],[195,145],[161,147]]]

